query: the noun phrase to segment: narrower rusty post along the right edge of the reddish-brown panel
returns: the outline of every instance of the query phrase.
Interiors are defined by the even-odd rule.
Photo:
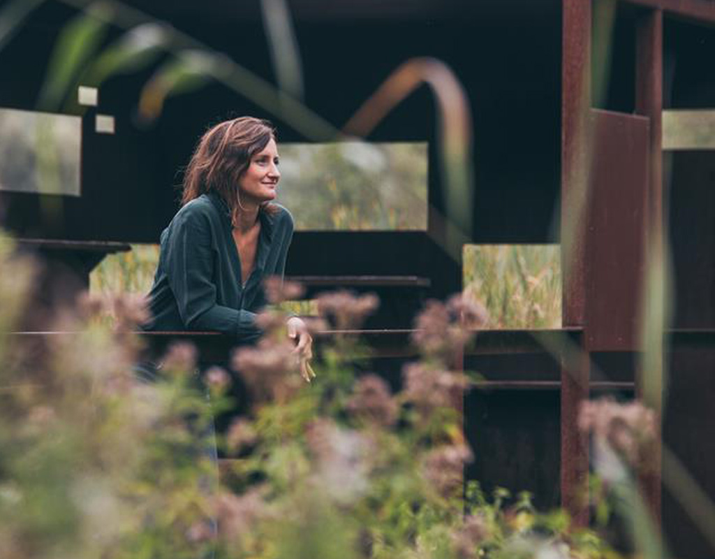
[[[710,3],[710,6],[713,6]],[[641,16],[636,24],[636,112],[649,117],[649,178],[646,202],[646,254],[651,261],[662,262],[664,251],[663,223],[663,11],[657,9]],[[661,271],[664,273],[664,271]],[[644,325],[641,325],[641,327]],[[659,371],[663,374],[663,356]],[[663,386],[662,378],[658,383]],[[643,383],[636,379],[636,395],[643,398]],[[662,409],[662,399],[646,402],[656,410]],[[653,469],[641,477],[646,500],[657,522],[661,520],[661,437],[660,427],[654,448]]]

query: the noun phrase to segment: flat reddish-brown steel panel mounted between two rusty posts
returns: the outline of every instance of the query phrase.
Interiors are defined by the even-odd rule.
[[[644,276],[649,120],[591,111],[594,132],[586,237],[586,346],[639,345]]]

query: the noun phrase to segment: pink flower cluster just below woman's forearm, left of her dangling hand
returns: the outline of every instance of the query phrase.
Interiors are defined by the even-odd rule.
[[[245,380],[257,402],[285,402],[300,387],[300,363],[292,342],[261,339],[256,346],[237,349],[232,366]]]

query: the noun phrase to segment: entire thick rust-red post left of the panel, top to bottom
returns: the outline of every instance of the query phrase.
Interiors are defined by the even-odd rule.
[[[584,240],[591,107],[591,0],[562,2],[561,260],[563,326],[582,326]],[[578,214],[578,215],[577,215]],[[576,525],[588,524],[588,440],[578,431],[578,407],[588,398],[589,359],[561,364],[561,501]]]

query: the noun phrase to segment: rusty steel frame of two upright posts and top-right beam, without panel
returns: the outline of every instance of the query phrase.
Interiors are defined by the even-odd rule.
[[[598,231],[589,228],[586,220],[572,230],[568,212],[588,203],[588,188],[592,165],[593,138],[588,124],[591,112],[591,11],[600,0],[563,0],[562,54],[562,250],[564,291],[563,324],[583,326],[588,339],[590,329],[598,324],[586,320],[587,246],[597,243]],[[644,199],[643,250],[653,258],[663,251],[663,170],[662,170],[662,82],[663,82],[663,17],[664,11],[676,16],[715,22],[715,4],[701,0],[628,0],[628,4],[646,8],[636,21],[636,113],[649,119],[648,178]],[[576,238],[564,239],[564,234]],[[655,252],[655,254],[654,254]],[[647,261],[647,258],[646,258]],[[637,266],[637,263],[635,263]],[[642,270],[628,270],[633,276]],[[633,294],[634,296],[637,293]],[[633,344],[633,340],[631,340]],[[632,349],[613,348],[613,349]],[[583,348],[578,370],[563,367],[561,380],[561,490],[563,505],[576,522],[588,522],[588,510],[582,495],[588,475],[588,447],[576,427],[578,406],[588,397],[588,349]],[[636,393],[641,394],[641,382],[636,381]],[[658,457],[660,449],[656,449]],[[656,472],[642,480],[646,499],[654,515],[660,518],[660,464]]]

